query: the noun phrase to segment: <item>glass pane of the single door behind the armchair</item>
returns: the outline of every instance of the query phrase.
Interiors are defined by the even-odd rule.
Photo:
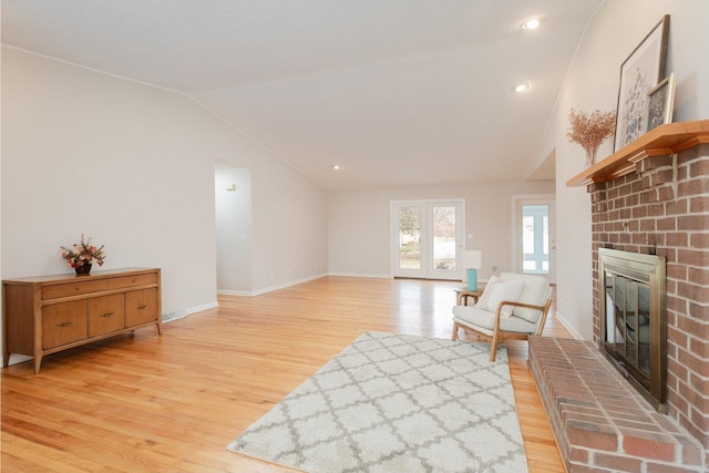
[[[522,206],[522,271],[549,273],[549,207]]]

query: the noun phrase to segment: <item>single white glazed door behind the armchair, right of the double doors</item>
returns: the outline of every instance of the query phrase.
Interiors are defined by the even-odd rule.
[[[517,273],[542,275],[556,282],[555,200],[515,197],[515,266]]]

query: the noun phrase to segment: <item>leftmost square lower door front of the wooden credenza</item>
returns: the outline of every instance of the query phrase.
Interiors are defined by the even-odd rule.
[[[42,348],[59,347],[86,338],[86,301],[74,300],[42,309]]]

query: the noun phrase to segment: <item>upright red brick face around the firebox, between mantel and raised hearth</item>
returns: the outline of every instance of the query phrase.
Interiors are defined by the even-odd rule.
[[[667,258],[668,414],[709,444],[709,144],[647,157],[588,186],[594,281],[598,248]],[[603,295],[594,286],[594,342]]]

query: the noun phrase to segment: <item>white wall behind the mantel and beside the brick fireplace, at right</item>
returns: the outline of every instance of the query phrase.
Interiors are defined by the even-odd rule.
[[[590,200],[585,187],[566,187],[584,168],[585,152],[567,142],[572,107],[616,109],[620,64],[657,24],[670,14],[667,72],[675,72],[675,121],[709,117],[709,61],[706,0],[606,1],[592,20],[551,116],[537,160],[556,151],[558,316],[584,339],[592,339]],[[705,37],[703,43],[700,32]],[[609,140],[598,152],[613,151]]]

